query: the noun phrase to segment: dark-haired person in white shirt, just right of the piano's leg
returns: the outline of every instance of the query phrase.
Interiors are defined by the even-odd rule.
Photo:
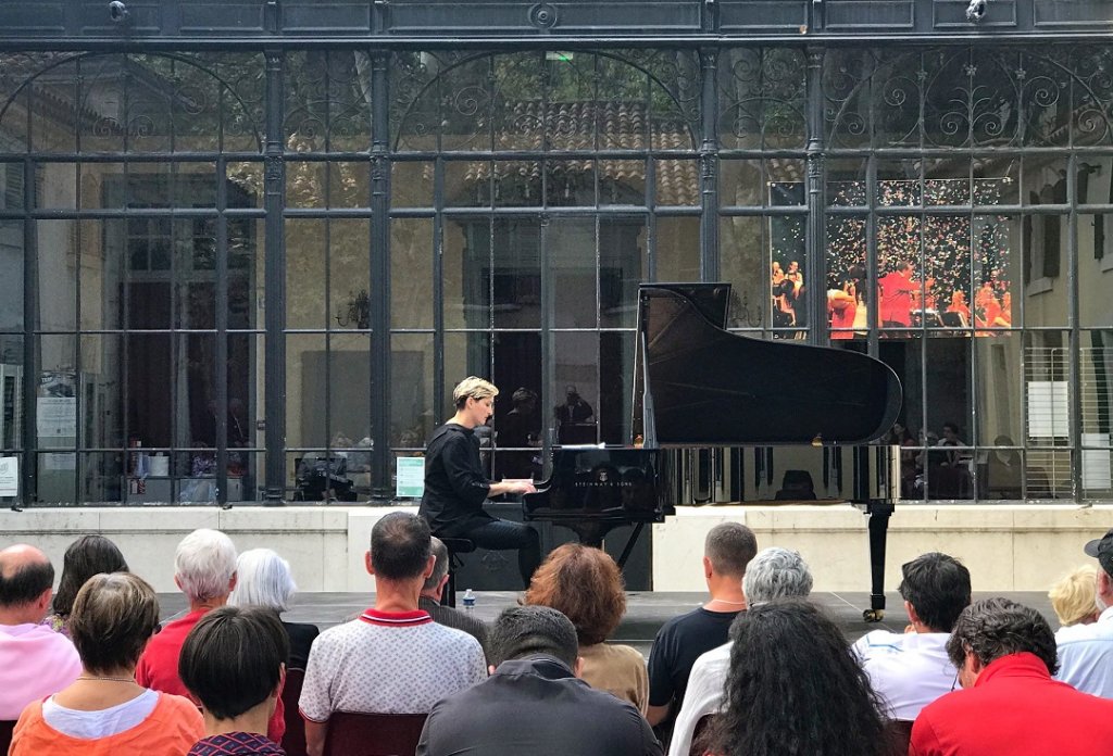
[[[949,693],[955,668],[947,639],[958,615],[971,603],[971,574],[954,557],[933,551],[900,568],[898,590],[908,614],[908,630],[873,630],[854,644],[874,689],[894,719],[912,722],[920,709]]]

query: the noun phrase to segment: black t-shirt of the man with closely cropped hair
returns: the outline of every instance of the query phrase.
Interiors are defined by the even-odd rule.
[[[680,710],[688,676],[701,654],[727,643],[738,611],[708,611],[699,607],[661,626],[649,654],[649,705],[670,702],[670,718]]]

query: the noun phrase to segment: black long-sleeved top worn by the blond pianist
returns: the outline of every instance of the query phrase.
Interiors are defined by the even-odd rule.
[[[490,491],[475,431],[455,422],[434,430],[425,447],[425,494],[418,509],[433,535],[462,536],[494,519],[483,511]]]

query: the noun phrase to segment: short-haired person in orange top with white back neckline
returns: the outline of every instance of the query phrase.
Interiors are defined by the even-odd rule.
[[[135,682],[136,662],[157,628],[158,597],[142,578],[128,573],[89,578],[70,614],[81,675],[27,707],[9,753],[181,756],[205,732],[197,707]]]

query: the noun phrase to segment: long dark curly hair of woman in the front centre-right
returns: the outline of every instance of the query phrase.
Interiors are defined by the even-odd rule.
[[[722,756],[889,754],[881,704],[843,633],[818,608],[781,599],[730,627],[727,707],[712,726]]]

